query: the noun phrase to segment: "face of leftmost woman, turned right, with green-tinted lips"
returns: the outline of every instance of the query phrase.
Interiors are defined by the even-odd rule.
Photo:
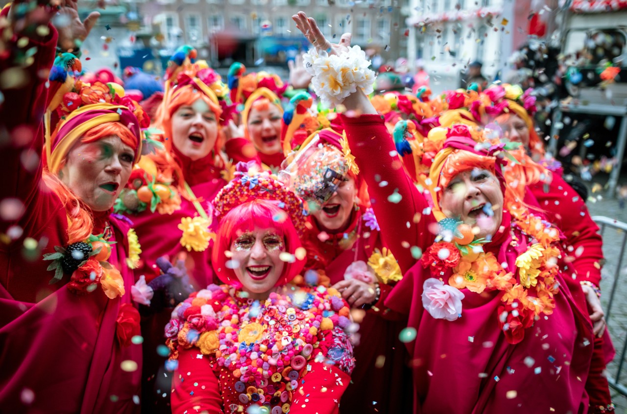
[[[107,211],[129,181],[134,159],[133,149],[115,135],[77,142],[59,176],[93,211]]]

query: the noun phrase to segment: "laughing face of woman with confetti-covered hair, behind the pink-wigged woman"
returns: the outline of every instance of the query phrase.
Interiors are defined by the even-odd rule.
[[[329,201],[320,210],[314,212],[314,218],[320,230],[332,234],[344,231],[350,224],[350,214],[356,198],[355,179],[346,176]]]

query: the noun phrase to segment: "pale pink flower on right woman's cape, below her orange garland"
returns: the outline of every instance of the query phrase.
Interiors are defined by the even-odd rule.
[[[435,319],[455,321],[461,316],[461,299],[464,294],[456,287],[433,277],[424,281],[423,307]]]

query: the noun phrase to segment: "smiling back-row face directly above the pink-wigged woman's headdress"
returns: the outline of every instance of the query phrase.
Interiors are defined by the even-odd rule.
[[[261,154],[272,155],[283,151],[281,147],[282,118],[281,111],[269,102],[253,105],[250,109],[246,122],[248,136]]]

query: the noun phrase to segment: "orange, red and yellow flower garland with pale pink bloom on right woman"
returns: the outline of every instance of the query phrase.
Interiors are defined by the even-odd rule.
[[[447,273],[450,276],[445,288],[438,279],[426,280],[424,308],[437,319],[455,321],[462,310],[460,295],[461,299],[464,295],[460,289],[466,288],[477,294],[501,290],[504,294],[501,297],[503,305],[498,309],[500,327],[508,342],[517,344],[522,341],[524,330],[532,326],[540,314],[550,315],[555,309],[553,297],[559,291],[559,282],[555,279],[559,272],[557,259],[561,257],[555,245],[560,240],[560,233],[550,223],[531,213],[524,219],[512,221],[512,245],[515,246],[518,240],[514,229],[522,231],[530,243],[527,251],[520,254],[515,262],[520,282],[516,282],[514,272],[507,272],[493,253],[483,252],[477,241],[462,241],[463,244],[459,238],[452,242],[438,241],[423,255],[423,267],[433,268],[441,277]],[[472,248],[468,249],[469,245]]]

